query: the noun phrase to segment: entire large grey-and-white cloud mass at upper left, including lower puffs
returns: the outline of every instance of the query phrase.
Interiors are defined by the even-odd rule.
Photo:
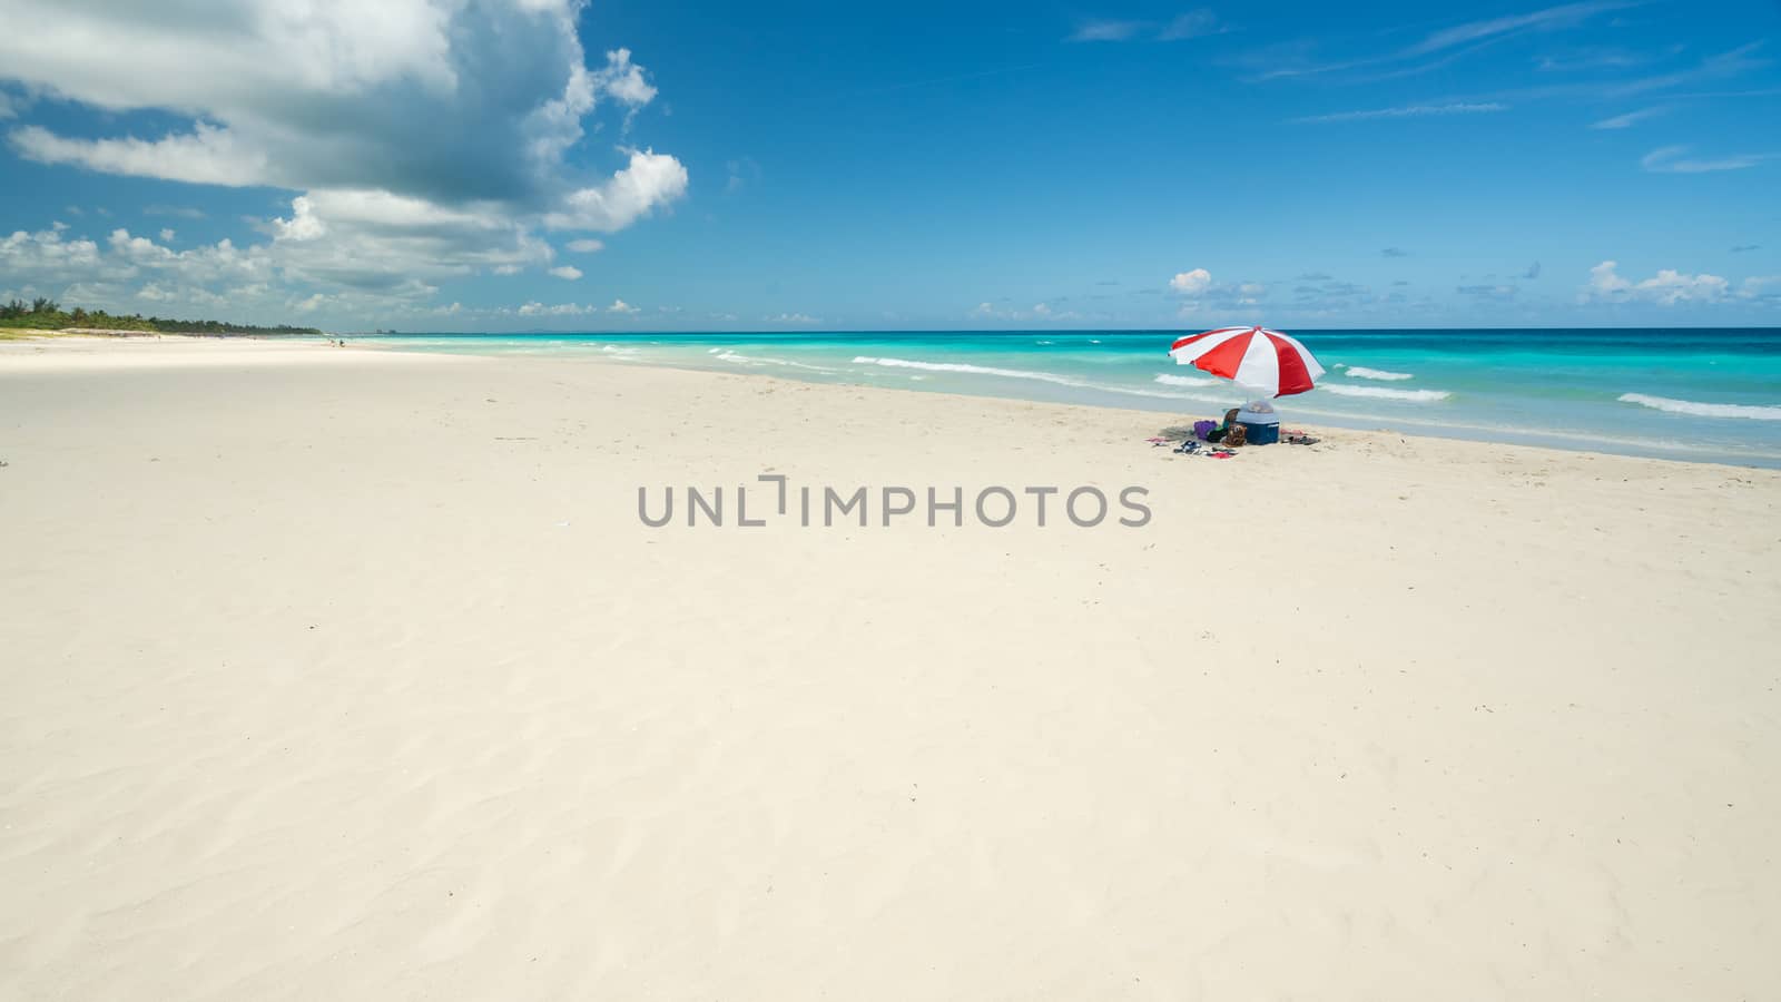
[[[598,185],[566,164],[602,105],[629,125],[657,98],[627,48],[588,66],[581,0],[5,7],[30,30],[0,34],[0,80],[102,112],[187,121],[96,139],[30,125],[7,134],[12,150],[118,175],[287,189],[290,212],[265,223],[264,255],[276,282],[335,289],[328,307],[543,267],[552,250],[536,228],[614,232],[687,191],[686,168],[652,150],[618,150],[623,166]],[[290,301],[312,303],[310,292]]]

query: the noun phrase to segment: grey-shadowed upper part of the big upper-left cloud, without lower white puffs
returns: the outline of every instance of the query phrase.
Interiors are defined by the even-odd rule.
[[[207,173],[191,169],[196,159],[226,160],[246,175],[223,184],[433,196],[525,189],[516,178],[533,164],[513,152],[524,155],[534,112],[582,66],[566,9],[436,0],[7,7],[9,21],[32,25],[0,39],[7,77],[105,111],[164,109],[194,119],[192,134],[162,141],[166,152],[183,153],[162,166],[141,159],[150,146],[142,141],[61,150],[93,152],[98,169],[175,180]],[[118,57],[114,39],[125,37],[130,59]],[[481,100],[463,100],[472,89]],[[427,164],[451,153],[479,169]]]

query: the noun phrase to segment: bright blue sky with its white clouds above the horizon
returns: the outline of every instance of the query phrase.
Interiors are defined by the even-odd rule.
[[[1781,323],[1781,7],[0,0],[0,296],[331,330]]]

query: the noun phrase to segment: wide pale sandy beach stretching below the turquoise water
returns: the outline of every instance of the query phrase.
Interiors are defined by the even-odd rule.
[[[0,997],[1781,993],[1781,474],[1165,423],[0,344]]]

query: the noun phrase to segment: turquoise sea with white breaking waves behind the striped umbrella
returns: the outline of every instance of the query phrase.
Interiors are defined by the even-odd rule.
[[[1183,332],[401,333],[395,349],[768,373],[817,383],[1215,417],[1231,383],[1175,365]],[[1293,330],[1329,374],[1286,424],[1781,467],[1781,328]]]

